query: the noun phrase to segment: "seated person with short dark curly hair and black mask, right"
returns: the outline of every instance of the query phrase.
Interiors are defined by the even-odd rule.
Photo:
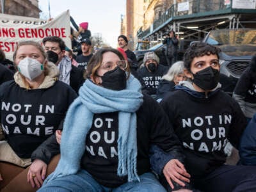
[[[220,90],[220,49],[205,43],[184,54],[183,81],[161,101],[183,144],[190,184],[202,191],[256,191],[256,166],[225,164],[227,141],[238,148],[246,118]]]

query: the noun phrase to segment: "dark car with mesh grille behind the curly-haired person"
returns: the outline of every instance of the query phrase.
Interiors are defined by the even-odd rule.
[[[256,29],[212,30],[203,42],[221,49],[220,71],[236,81],[256,55]]]

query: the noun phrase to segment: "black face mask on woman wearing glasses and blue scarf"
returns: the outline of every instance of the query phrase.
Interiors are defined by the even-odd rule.
[[[120,67],[109,70],[100,76],[102,79],[102,86],[109,90],[124,90],[126,88],[126,74]]]

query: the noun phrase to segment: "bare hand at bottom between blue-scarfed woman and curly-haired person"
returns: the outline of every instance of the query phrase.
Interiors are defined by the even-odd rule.
[[[166,178],[168,184],[170,184],[173,189],[173,181],[179,184],[180,186],[185,186],[184,182],[190,182],[189,173],[186,171],[184,165],[180,163],[178,159],[172,159],[165,164],[163,169],[164,177]],[[184,181],[184,182],[182,182]]]

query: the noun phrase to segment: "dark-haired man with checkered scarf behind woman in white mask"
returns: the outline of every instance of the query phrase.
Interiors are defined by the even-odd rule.
[[[70,85],[77,93],[84,82],[83,70],[72,65],[72,61],[65,56],[65,42],[58,36],[47,36],[43,39],[45,52],[53,51],[58,54],[55,63],[60,70],[59,80]]]

